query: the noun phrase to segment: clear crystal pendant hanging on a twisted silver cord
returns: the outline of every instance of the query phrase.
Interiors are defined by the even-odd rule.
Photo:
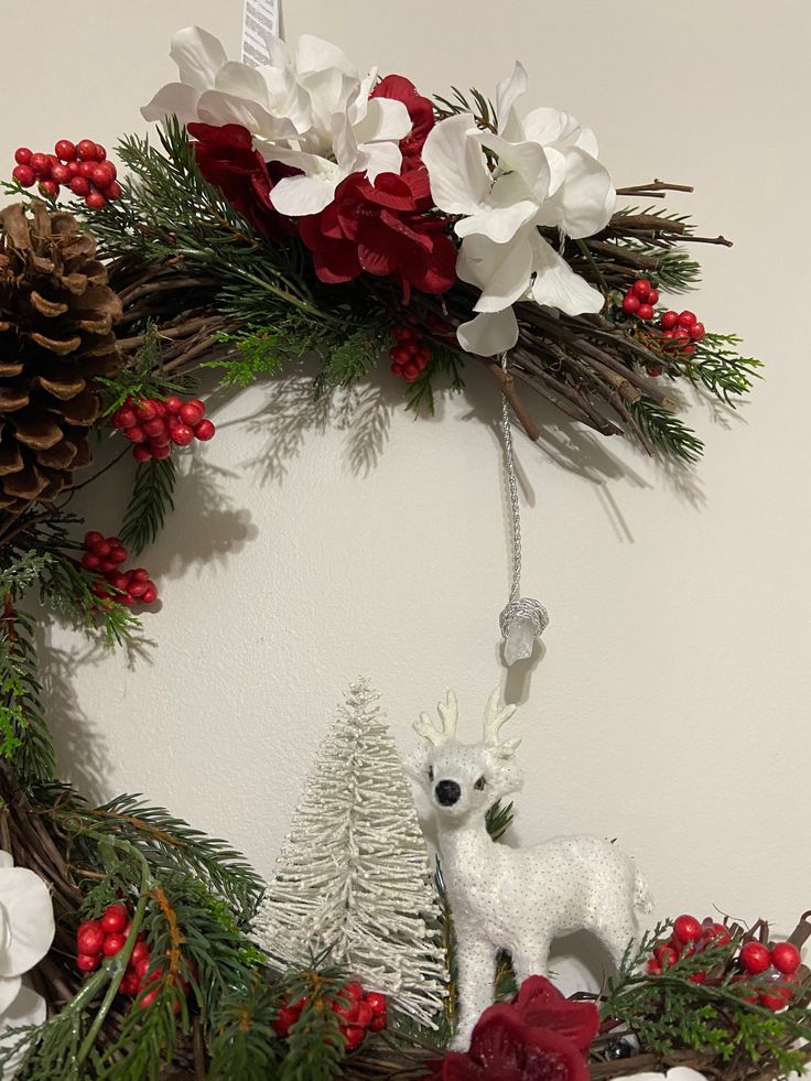
[[[508,376],[507,354],[501,354],[501,368]],[[549,614],[540,601],[521,596],[521,510],[518,501],[518,479],[512,456],[512,430],[507,396],[501,394],[501,434],[504,437],[505,467],[510,495],[510,522],[512,527],[512,585],[510,598],[501,610],[499,625],[504,638],[504,659],[508,668],[532,656],[536,641],[549,626]]]

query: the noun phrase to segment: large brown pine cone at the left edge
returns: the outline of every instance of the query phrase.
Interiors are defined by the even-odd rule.
[[[47,504],[88,465],[95,376],[122,367],[96,241],[34,201],[0,210],[0,508]]]

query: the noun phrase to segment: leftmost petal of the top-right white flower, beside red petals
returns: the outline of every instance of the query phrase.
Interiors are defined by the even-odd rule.
[[[490,190],[482,148],[471,131],[473,117],[448,117],[431,130],[422,148],[434,203],[448,214],[473,214]]]

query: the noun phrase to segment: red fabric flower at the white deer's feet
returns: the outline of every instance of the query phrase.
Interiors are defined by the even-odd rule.
[[[450,1051],[435,1074],[442,1081],[588,1081],[572,1040],[521,1019],[513,1006],[490,1006],[473,1030],[469,1051]]]

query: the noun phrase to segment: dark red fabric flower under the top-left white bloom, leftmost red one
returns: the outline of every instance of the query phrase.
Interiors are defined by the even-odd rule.
[[[253,150],[250,131],[239,123],[192,122],[188,133],[196,139],[192,143],[199,171],[205,179],[220,190],[228,202],[259,233],[271,240],[281,240],[295,230],[270,202],[274,180],[262,155]],[[273,169],[281,167],[273,163]],[[284,170],[285,174],[289,170]]]

